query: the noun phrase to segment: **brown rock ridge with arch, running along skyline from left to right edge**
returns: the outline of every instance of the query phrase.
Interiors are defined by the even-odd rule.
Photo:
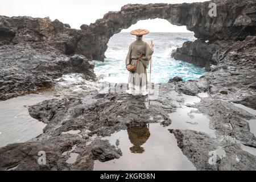
[[[209,4],[216,3],[217,16],[210,17]],[[213,0],[183,4],[125,5],[120,11],[110,11],[81,30],[59,20],[28,16],[0,16],[0,45],[29,43],[41,49],[61,54],[84,55],[89,60],[104,60],[109,39],[138,20],[161,18],[177,26],[187,26],[196,38],[205,40],[243,40],[256,35],[255,0]]]

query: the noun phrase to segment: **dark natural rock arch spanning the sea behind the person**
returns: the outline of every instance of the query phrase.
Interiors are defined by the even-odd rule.
[[[217,7],[221,7],[218,9],[218,16],[216,17],[208,15],[211,2],[216,3]],[[86,33],[90,32],[91,36],[81,38],[77,43],[76,52],[88,56],[89,59],[104,60],[104,53],[108,48],[107,44],[114,34],[129,28],[139,20],[155,18],[166,19],[177,26],[187,26],[187,30],[193,31],[196,38],[203,40],[239,38],[240,35],[243,35],[243,39],[245,35],[250,35],[255,30],[252,21],[249,24],[240,23],[239,26],[236,24],[239,13],[242,10],[249,10],[249,6],[253,5],[249,5],[247,2],[243,3],[240,0],[225,2],[216,0],[174,5],[166,3],[125,5],[121,11],[110,11],[90,26],[83,24],[81,30]],[[239,11],[232,11],[232,9],[239,9]],[[234,15],[229,11],[237,14]],[[247,16],[246,19],[251,18]],[[246,22],[248,22],[247,20]]]

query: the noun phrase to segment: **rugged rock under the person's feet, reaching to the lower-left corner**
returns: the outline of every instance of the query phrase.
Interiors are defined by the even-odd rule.
[[[128,96],[126,93],[85,97],[55,98],[43,101],[29,108],[30,115],[47,123],[43,134],[27,143],[9,144],[1,148],[1,169],[14,166],[30,170],[93,169],[93,160],[106,161],[119,158],[122,152],[108,141],[97,136],[109,136],[115,131],[148,122],[168,120],[168,113],[174,110],[171,103],[163,104],[166,96],[160,98],[154,109],[146,109],[145,97]],[[90,101],[89,101],[90,100]],[[162,110],[159,113],[159,110]],[[156,115],[158,114],[158,115]],[[153,118],[153,119],[151,119]],[[78,133],[69,134],[68,131]],[[71,151],[72,146],[75,150]],[[32,148],[32,149],[31,149]],[[54,148],[51,151],[50,148]],[[32,150],[32,151],[30,151]],[[47,166],[38,164],[36,152],[45,151]],[[10,152],[11,151],[11,152]],[[27,153],[24,151],[28,151]],[[63,155],[63,152],[68,153]],[[73,164],[67,164],[69,153],[79,154]],[[16,158],[16,156],[20,155]],[[8,158],[15,158],[8,160]],[[29,164],[29,165],[28,165]]]

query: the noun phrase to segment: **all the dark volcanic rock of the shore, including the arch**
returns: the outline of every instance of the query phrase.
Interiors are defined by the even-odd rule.
[[[219,4],[222,1],[213,2]],[[232,17],[227,15],[224,18],[222,24],[225,26],[220,26],[219,19],[206,26],[209,17],[205,18],[207,16],[200,15],[197,10],[206,9],[208,5],[209,2],[126,5],[121,11],[110,12],[103,19],[90,26],[83,25],[82,30],[77,31],[57,20],[1,16],[0,32],[4,34],[0,36],[0,100],[52,87],[56,78],[67,73],[83,73],[86,80],[95,80],[90,60],[104,57],[110,36],[139,19],[148,19],[143,15],[144,9],[152,13],[149,18],[165,17],[171,23],[187,25],[188,30],[194,31],[199,39],[184,43],[172,55],[175,59],[205,66],[209,72],[197,80],[182,82],[175,78],[168,84],[155,85],[157,97],[150,103],[148,97],[128,96],[125,86],[114,85],[107,93],[89,90],[73,94],[67,91],[60,97],[30,106],[31,117],[47,126],[43,134],[26,143],[0,148],[0,169],[92,170],[96,159],[105,162],[122,156],[117,146],[101,140],[101,137],[145,123],[161,123],[167,129],[167,126],[172,126],[170,114],[185,105],[206,115],[215,134],[213,137],[202,131],[169,129],[177,139],[177,146],[197,170],[255,170],[255,153],[251,154],[243,146],[251,150],[256,148],[255,129],[249,125],[250,120],[256,121],[256,115],[234,105],[256,109],[255,1],[225,1],[222,13],[231,11],[231,7],[234,10]],[[168,16],[159,13],[170,9],[173,11]],[[180,16],[184,9],[188,10],[185,18]],[[131,11],[137,17],[134,22],[120,20],[129,16],[126,13]],[[123,15],[121,18],[120,14]],[[201,22],[197,22],[198,19]],[[113,26],[115,22],[118,23]],[[108,35],[100,34],[99,31],[106,28]],[[99,34],[101,36],[97,36]],[[95,35],[92,44],[85,40],[88,35]],[[83,44],[73,36],[84,41]],[[101,40],[103,43],[97,44]],[[65,45],[62,51],[61,45]],[[196,97],[200,93],[208,93],[208,97],[200,98],[197,103],[184,104],[184,94]],[[39,151],[46,152],[46,165],[38,164]],[[73,155],[75,160],[67,162]],[[214,155],[215,164],[210,160]]]

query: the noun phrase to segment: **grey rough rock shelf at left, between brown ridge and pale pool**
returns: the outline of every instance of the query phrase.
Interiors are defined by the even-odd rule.
[[[0,46],[0,55],[0,100],[52,88],[54,79],[67,73],[96,79],[94,65],[82,55],[57,55],[26,44]]]

